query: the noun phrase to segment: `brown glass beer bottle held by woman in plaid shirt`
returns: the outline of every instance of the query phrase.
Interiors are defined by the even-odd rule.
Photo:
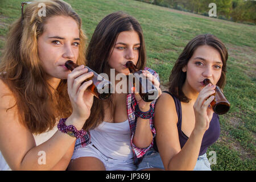
[[[158,97],[158,89],[155,88],[154,84],[144,75],[142,71],[139,70],[132,61],[127,61],[126,67],[129,69],[135,80],[133,79],[133,86],[136,88],[136,83],[139,86],[139,95],[142,97],[143,101],[151,102]],[[137,89],[138,90],[138,89]]]

